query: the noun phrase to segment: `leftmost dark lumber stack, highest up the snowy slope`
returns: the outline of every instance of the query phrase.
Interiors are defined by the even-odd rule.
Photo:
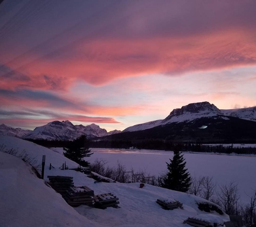
[[[49,185],[61,195],[64,195],[66,190],[74,186],[71,176],[47,176],[47,178],[49,178],[50,181]]]

